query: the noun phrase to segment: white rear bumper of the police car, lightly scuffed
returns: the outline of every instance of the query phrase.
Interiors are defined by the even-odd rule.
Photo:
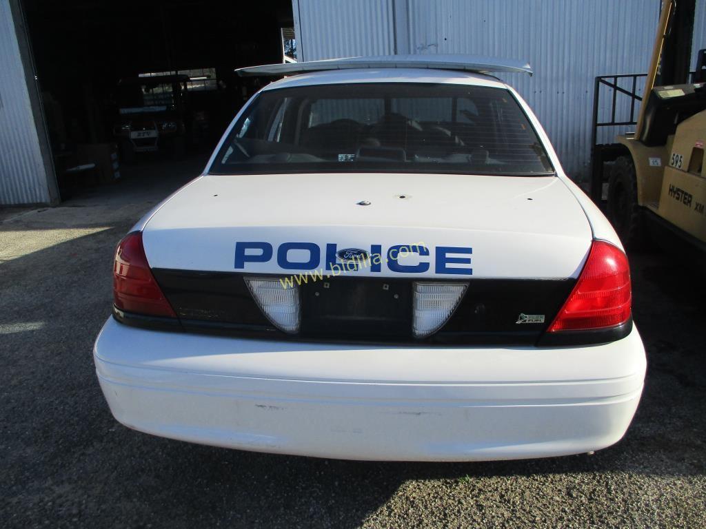
[[[236,449],[474,461],[602,449],[640,400],[645,351],[414,348],[222,338],[108,320],[97,375],[119,422]]]

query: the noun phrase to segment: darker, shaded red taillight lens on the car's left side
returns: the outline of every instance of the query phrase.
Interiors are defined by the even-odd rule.
[[[140,231],[128,233],[115,250],[113,298],[126,312],[177,317],[152,276]]]

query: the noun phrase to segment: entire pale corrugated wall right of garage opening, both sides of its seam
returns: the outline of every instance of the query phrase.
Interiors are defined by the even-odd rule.
[[[527,99],[575,179],[590,166],[594,78],[644,73],[659,18],[659,0],[294,0],[306,13],[299,49],[306,60],[400,52],[466,53],[526,59],[527,75],[503,75]],[[298,4],[298,6],[297,6]],[[696,46],[706,28],[704,1],[694,25]],[[347,6],[347,7],[346,7]],[[351,6],[356,6],[353,9]],[[344,14],[344,11],[351,13]],[[382,17],[380,13],[385,13]],[[295,13],[296,16],[296,13]],[[390,20],[393,18],[393,20]],[[406,28],[400,28],[400,23]],[[340,25],[347,37],[341,39]],[[385,31],[388,38],[385,38]],[[353,33],[354,35],[351,35]],[[693,61],[694,63],[695,61]],[[611,97],[604,98],[602,116]],[[628,112],[627,105],[621,107]],[[599,141],[622,130],[604,128]]]

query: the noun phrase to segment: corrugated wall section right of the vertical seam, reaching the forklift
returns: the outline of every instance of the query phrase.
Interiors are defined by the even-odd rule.
[[[659,18],[653,0],[409,0],[413,50],[527,59],[534,76],[500,75],[537,113],[573,178],[590,166],[594,78],[647,70]],[[611,104],[602,98],[602,116]],[[626,99],[620,99],[627,102]],[[626,107],[622,111],[628,111]],[[626,117],[629,117],[626,116]],[[603,128],[599,141],[621,130]]]

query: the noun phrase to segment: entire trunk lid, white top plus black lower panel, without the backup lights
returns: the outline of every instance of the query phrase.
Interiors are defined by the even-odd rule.
[[[143,241],[189,330],[419,341],[415,284],[431,281],[465,291],[423,341],[530,345],[573,288],[592,233],[553,176],[287,174],[203,176],[157,210]],[[380,260],[339,269],[345,250]],[[294,335],[251,295],[248,278],[270,274],[299,289]]]

